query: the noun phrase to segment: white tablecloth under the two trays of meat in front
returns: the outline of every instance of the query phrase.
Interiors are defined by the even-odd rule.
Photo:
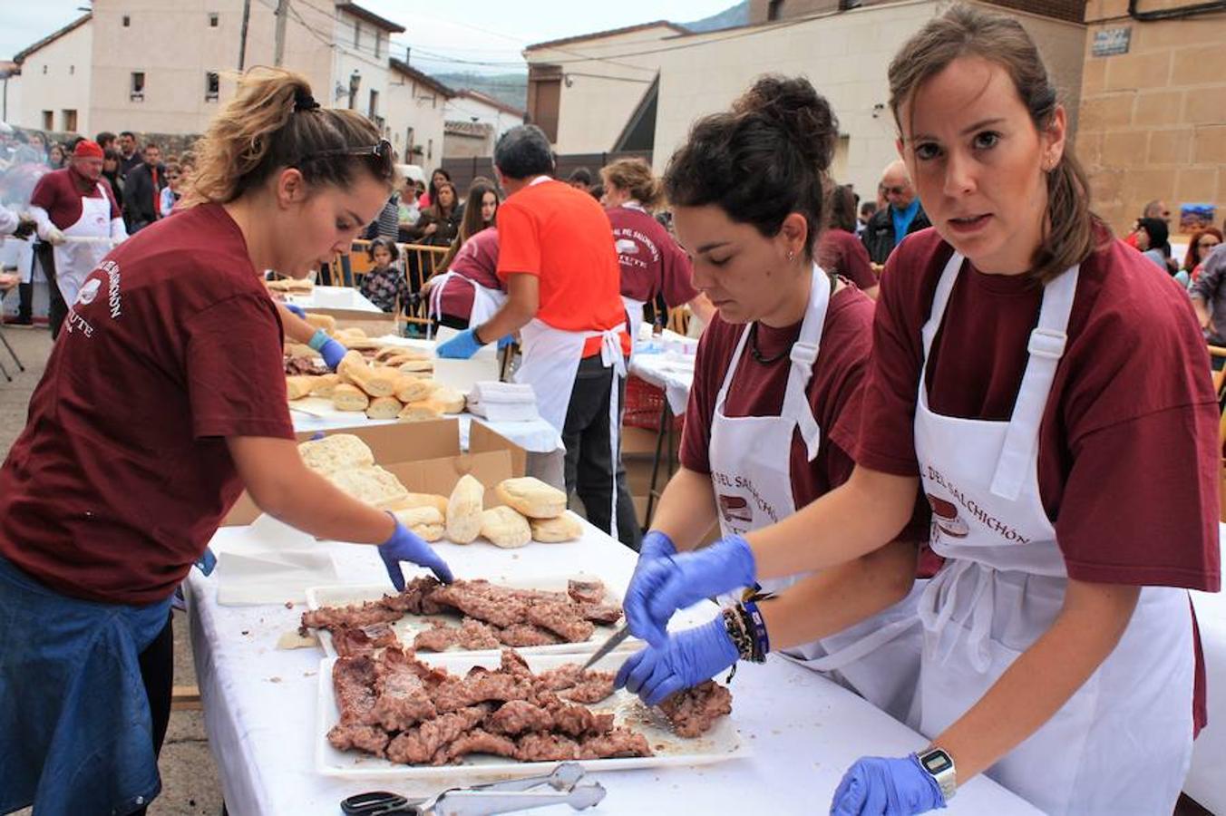
[[[234,531],[213,539],[226,548]],[[386,578],[373,548],[321,544],[347,581]],[[494,570],[558,575],[586,570],[626,581],[634,554],[588,527],[574,544],[533,544],[498,550],[484,544],[439,545],[460,577]],[[216,576],[216,573],[215,573]],[[192,571],[189,616],[210,747],[233,816],[262,814],[332,816],[337,803],[374,788],[428,794],[451,783],[346,782],[314,772],[316,649],[278,651],[277,638],[298,624],[303,608],[218,606],[216,577]],[[593,774],[608,798],[588,812],[723,812],[747,807],[763,814],[824,812],[842,773],[862,755],[899,756],[926,740],[824,678],[782,659],[743,665],[732,682],[742,739],[753,755],[702,768],[651,768]],[[554,807],[542,814],[571,812]],[[950,814],[1032,815],[1036,809],[986,778],[971,780]]]

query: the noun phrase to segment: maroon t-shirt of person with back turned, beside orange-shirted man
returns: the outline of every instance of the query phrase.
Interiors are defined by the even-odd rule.
[[[689,257],[658,221],[636,207],[606,211],[622,267],[622,294],[650,303],[663,295],[669,309],[698,297]]]

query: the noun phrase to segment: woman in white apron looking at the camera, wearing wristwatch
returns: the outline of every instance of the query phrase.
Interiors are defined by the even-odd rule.
[[[945,557],[911,720],[932,742],[856,762],[832,812],[924,812],[987,772],[1046,814],[1170,814],[1204,716],[1184,587],[1220,583],[1217,406],[1188,298],[1091,213],[1018,22],[955,6],[889,78],[934,229],[881,276],[856,470],[644,569],[631,630],[658,642],[696,598],[880,548],[922,484]]]

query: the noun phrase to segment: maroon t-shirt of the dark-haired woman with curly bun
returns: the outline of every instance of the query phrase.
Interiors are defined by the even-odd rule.
[[[797,508],[845,483],[856,467],[847,452],[847,439],[840,437],[836,423],[840,415],[859,414],[861,385],[872,350],[873,306],[873,301],[853,287],[836,292],[830,299],[821,347],[805,390],[821,430],[818,456],[809,462],[799,430],[792,436],[792,499]],[[709,451],[715,402],[744,328],[741,323],[725,322],[716,314],[699,341],[680,447],[682,464],[696,473],[711,473]],[[745,344],[723,407],[728,417],[777,417],[783,408],[792,365],[787,352],[801,336],[801,323],[783,328],[758,323],[756,333],[761,355],[780,359],[764,365],[754,359]],[[928,539],[928,507],[918,496],[916,517],[899,538]]]

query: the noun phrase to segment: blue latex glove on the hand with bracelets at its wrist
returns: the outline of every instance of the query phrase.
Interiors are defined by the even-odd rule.
[[[662,647],[649,646],[631,654],[618,670],[613,687],[625,686],[642,702],[657,706],[683,689],[710,680],[739,657],[720,615],[672,635]]]

